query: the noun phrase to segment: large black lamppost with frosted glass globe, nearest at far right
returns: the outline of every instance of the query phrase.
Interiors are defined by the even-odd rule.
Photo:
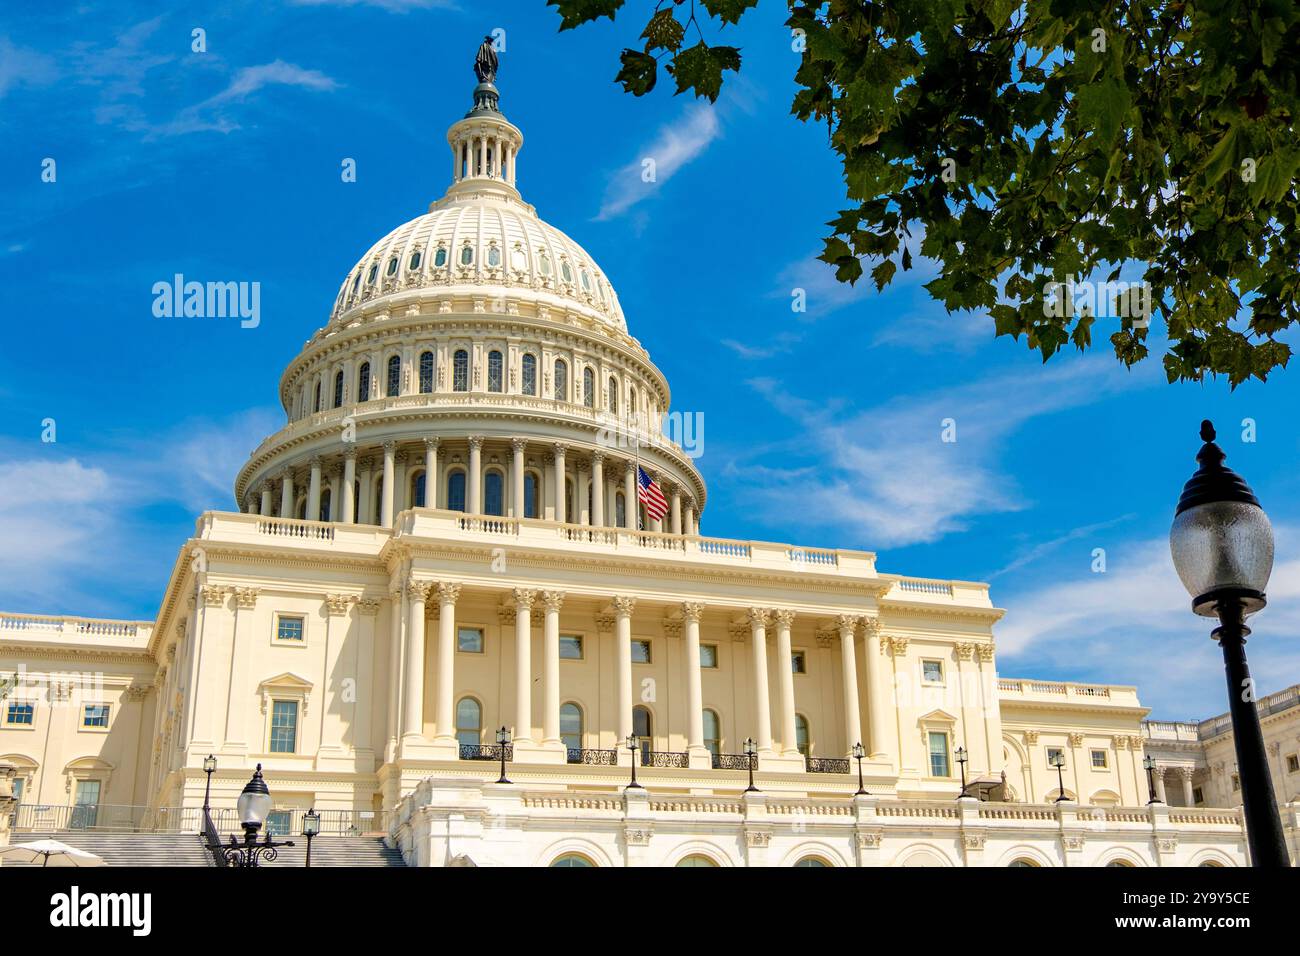
[[[1256,866],[1290,866],[1254,706],[1254,683],[1245,662],[1245,639],[1251,633],[1245,618],[1268,604],[1264,589],[1273,574],[1273,527],[1251,486],[1223,467],[1227,455],[1214,444],[1210,421],[1201,423],[1201,441],[1205,444],[1196,455],[1200,467],[1183,485],[1169,529],[1169,549],[1192,596],[1192,611],[1219,620],[1212,636],[1223,649],[1251,860]]]

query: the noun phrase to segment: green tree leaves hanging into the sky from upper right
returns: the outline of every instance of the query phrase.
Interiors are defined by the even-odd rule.
[[[757,0],[659,0],[618,81],[716,100]],[[547,0],[562,29],[625,0]],[[1053,308],[1057,284],[1145,284],[1170,381],[1235,386],[1286,365],[1297,320],[1300,8],[1290,0],[788,0],[792,112],[826,122],[849,204],[822,259],[884,289],[932,259],[931,295],[983,310],[1044,362],[1108,319]],[[688,35],[697,42],[686,46]],[[874,263],[874,264],[872,264]],[[1105,297],[1101,304],[1108,304]],[[1100,311],[1100,310],[1098,310]],[[1141,316],[1109,319],[1117,358]]]

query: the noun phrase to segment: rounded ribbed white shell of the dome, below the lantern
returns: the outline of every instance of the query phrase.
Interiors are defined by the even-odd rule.
[[[504,191],[450,193],[376,242],[348,272],[332,324],[356,306],[429,287],[528,298],[627,332],[618,295],[586,250]]]

